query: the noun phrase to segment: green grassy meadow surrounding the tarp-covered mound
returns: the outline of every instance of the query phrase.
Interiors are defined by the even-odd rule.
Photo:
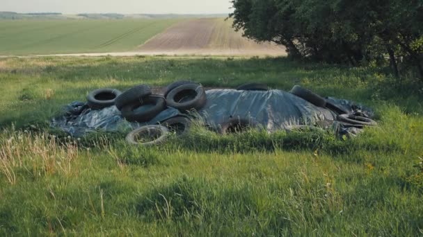
[[[45,130],[90,90],[182,78],[300,84],[373,107],[380,125],[346,141],[195,128],[155,148],[127,146],[125,134],[79,141]],[[104,57],[3,58],[0,82],[0,236],[423,235],[417,80],[286,58]]]

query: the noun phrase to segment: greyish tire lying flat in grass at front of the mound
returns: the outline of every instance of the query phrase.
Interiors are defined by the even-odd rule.
[[[152,141],[142,141],[142,137],[153,138]],[[154,146],[163,143],[168,136],[168,129],[161,125],[147,125],[138,128],[127,135],[127,142],[135,146]]]

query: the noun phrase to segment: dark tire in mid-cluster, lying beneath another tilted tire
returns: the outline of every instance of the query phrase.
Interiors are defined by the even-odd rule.
[[[150,105],[149,107],[146,107]],[[141,107],[146,107],[141,110]],[[166,109],[166,100],[162,96],[147,96],[122,108],[122,116],[130,122],[144,123]]]

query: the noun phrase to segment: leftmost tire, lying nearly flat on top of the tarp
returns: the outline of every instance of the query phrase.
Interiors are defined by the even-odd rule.
[[[91,109],[104,109],[106,107],[111,107],[115,105],[115,99],[120,96],[122,92],[118,91],[117,89],[96,89],[95,91],[91,91],[90,94],[87,96],[88,106]]]

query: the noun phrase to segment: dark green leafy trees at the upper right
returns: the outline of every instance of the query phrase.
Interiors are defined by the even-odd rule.
[[[233,0],[234,28],[287,47],[290,57],[330,63],[389,58],[423,78],[423,0]]]

